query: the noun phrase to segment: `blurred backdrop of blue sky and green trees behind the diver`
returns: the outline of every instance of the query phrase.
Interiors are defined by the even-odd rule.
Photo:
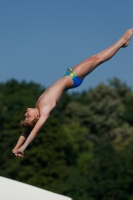
[[[133,41],[66,93],[23,159],[25,109],[133,27],[133,2],[0,1],[0,176],[73,200],[133,199]]]

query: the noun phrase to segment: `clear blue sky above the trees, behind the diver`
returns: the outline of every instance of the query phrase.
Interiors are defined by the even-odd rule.
[[[0,0],[0,82],[48,87],[133,28],[132,0]],[[119,78],[133,88],[133,39],[75,91]]]

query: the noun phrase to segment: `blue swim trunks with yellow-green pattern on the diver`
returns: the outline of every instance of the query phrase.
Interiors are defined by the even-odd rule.
[[[77,74],[73,71],[73,68],[68,68],[66,73],[64,74],[64,76],[70,76],[71,77],[71,79],[73,80],[73,83],[74,83],[73,88],[80,86],[81,83],[83,82],[83,79],[79,78],[77,76]]]

